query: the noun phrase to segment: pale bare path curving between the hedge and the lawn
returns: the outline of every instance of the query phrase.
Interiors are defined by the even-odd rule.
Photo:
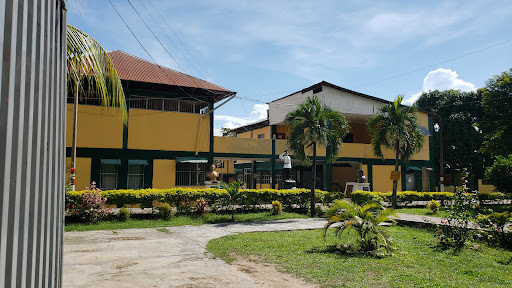
[[[323,219],[210,224],[64,234],[64,287],[316,287],[272,265],[212,258],[214,238],[316,229]]]

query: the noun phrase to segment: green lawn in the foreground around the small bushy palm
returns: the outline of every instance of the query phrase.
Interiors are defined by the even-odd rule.
[[[488,248],[459,254],[440,251],[431,232],[388,227],[397,250],[382,259],[334,251],[320,230],[246,233],[210,241],[207,249],[228,262],[233,257],[275,263],[323,287],[512,287],[512,252]]]

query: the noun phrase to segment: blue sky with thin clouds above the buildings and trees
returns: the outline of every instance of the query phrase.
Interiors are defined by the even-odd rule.
[[[130,0],[172,57],[127,0],[111,1],[160,65],[238,93],[215,111],[216,129],[264,118],[263,103],[322,80],[412,103],[512,67],[510,0]],[[151,60],[108,0],[71,1],[68,23],[107,51]]]

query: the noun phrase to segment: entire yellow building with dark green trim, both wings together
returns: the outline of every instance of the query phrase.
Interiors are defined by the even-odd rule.
[[[214,104],[236,93],[192,76],[152,64],[122,51],[109,53],[126,95],[128,125],[117,108],[103,108],[94,96],[79,99],[76,189],[96,181],[101,189],[204,187],[205,172],[217,165],[220,180],[243,179],[248,188],[277,188],[282,162],[278,155],[287,148],[284,116],[313,94],[322,103],[341,111],[349,121],[338,159],[325,163],[328,148],[320,148],[318,186],[342,191],[354,182],[358,170],[368,178],[373,191],[390,191],[394,169],[392,151],[384,159],[370,147],[366,121],[386,100],[350,91],[327,82],[269,103],[269,118],[236,129],[237,137],[214,137]],[[229,100],[229,99],[228,99]],[[67,161],[71,157],[73,98],[67,107]],[[218,104],[219,105],[219,104]],[[401,164],[401,190],[432,190],[432,121],[420,112],[425,134],[424,148]],[[293,155],[291,155],[293,158]],[[308,187],[311,168],[293,161],[299,187]]]

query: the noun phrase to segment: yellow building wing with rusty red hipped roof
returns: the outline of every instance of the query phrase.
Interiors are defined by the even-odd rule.
[[[204,185],[214,161],[213,105],[236,93],[122,51],[109,56],[124,88],[128,125],[94,95],[79,99],[76,189],[91,181],[101,189]],[[68,98],[68,167],[73,101]],[[233,177],[233,163],[223,165],[224,177]]]

